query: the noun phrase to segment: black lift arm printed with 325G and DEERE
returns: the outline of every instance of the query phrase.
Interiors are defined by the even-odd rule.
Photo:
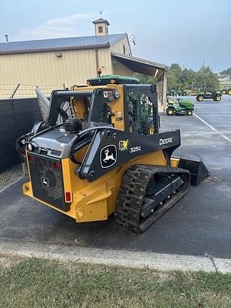
[[[96,133],[78,173],[81,178],[93,182],[123,163],[158,150],[164,151],[169,163],[170,156],[178,146],[179,130],[139,135],[108,128]]]

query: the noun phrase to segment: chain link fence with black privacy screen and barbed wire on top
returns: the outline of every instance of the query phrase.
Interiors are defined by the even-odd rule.
[[[15,150],[16,139],[31,130],[41,112],[35,88],[39,86],[45,96],[51,91],[65,88],[59,85],[32,85],[24,83],[0,83],[0,193],[25,175],[24,164],[19,163]]]

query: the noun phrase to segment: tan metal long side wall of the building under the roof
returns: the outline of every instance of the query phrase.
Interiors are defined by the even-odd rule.
[[[111,73],[109,48],[99,54],[99,65],[104,64],[107,73]],[[54,88],[63,88],[73,84],[86,84],[86,79],[96,75],[96,51],[92,49],[61,51],[57,57],[54,51],[39,53],[18,53],[0,56],[0,83],[7,83],[11,94],[17,83],[21,83],[16,97],[35,96],[36,85],[46,96]],[[0,96],[6,97],[6,91]]]

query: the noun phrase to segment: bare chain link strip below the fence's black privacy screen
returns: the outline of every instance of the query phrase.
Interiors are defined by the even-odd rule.
[[[24,166],[22,163],[0,173],[0,193],[21,178],[24,178]]]

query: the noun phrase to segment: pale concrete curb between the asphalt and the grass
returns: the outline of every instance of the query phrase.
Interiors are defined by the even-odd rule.
[[[36,242],[0,241],[1,255],[39,257],[49,260],[84,262],[118,267],[148,267],[160,272],[181,270],[183,272],[231,273],[231,259],[48,245]]]

